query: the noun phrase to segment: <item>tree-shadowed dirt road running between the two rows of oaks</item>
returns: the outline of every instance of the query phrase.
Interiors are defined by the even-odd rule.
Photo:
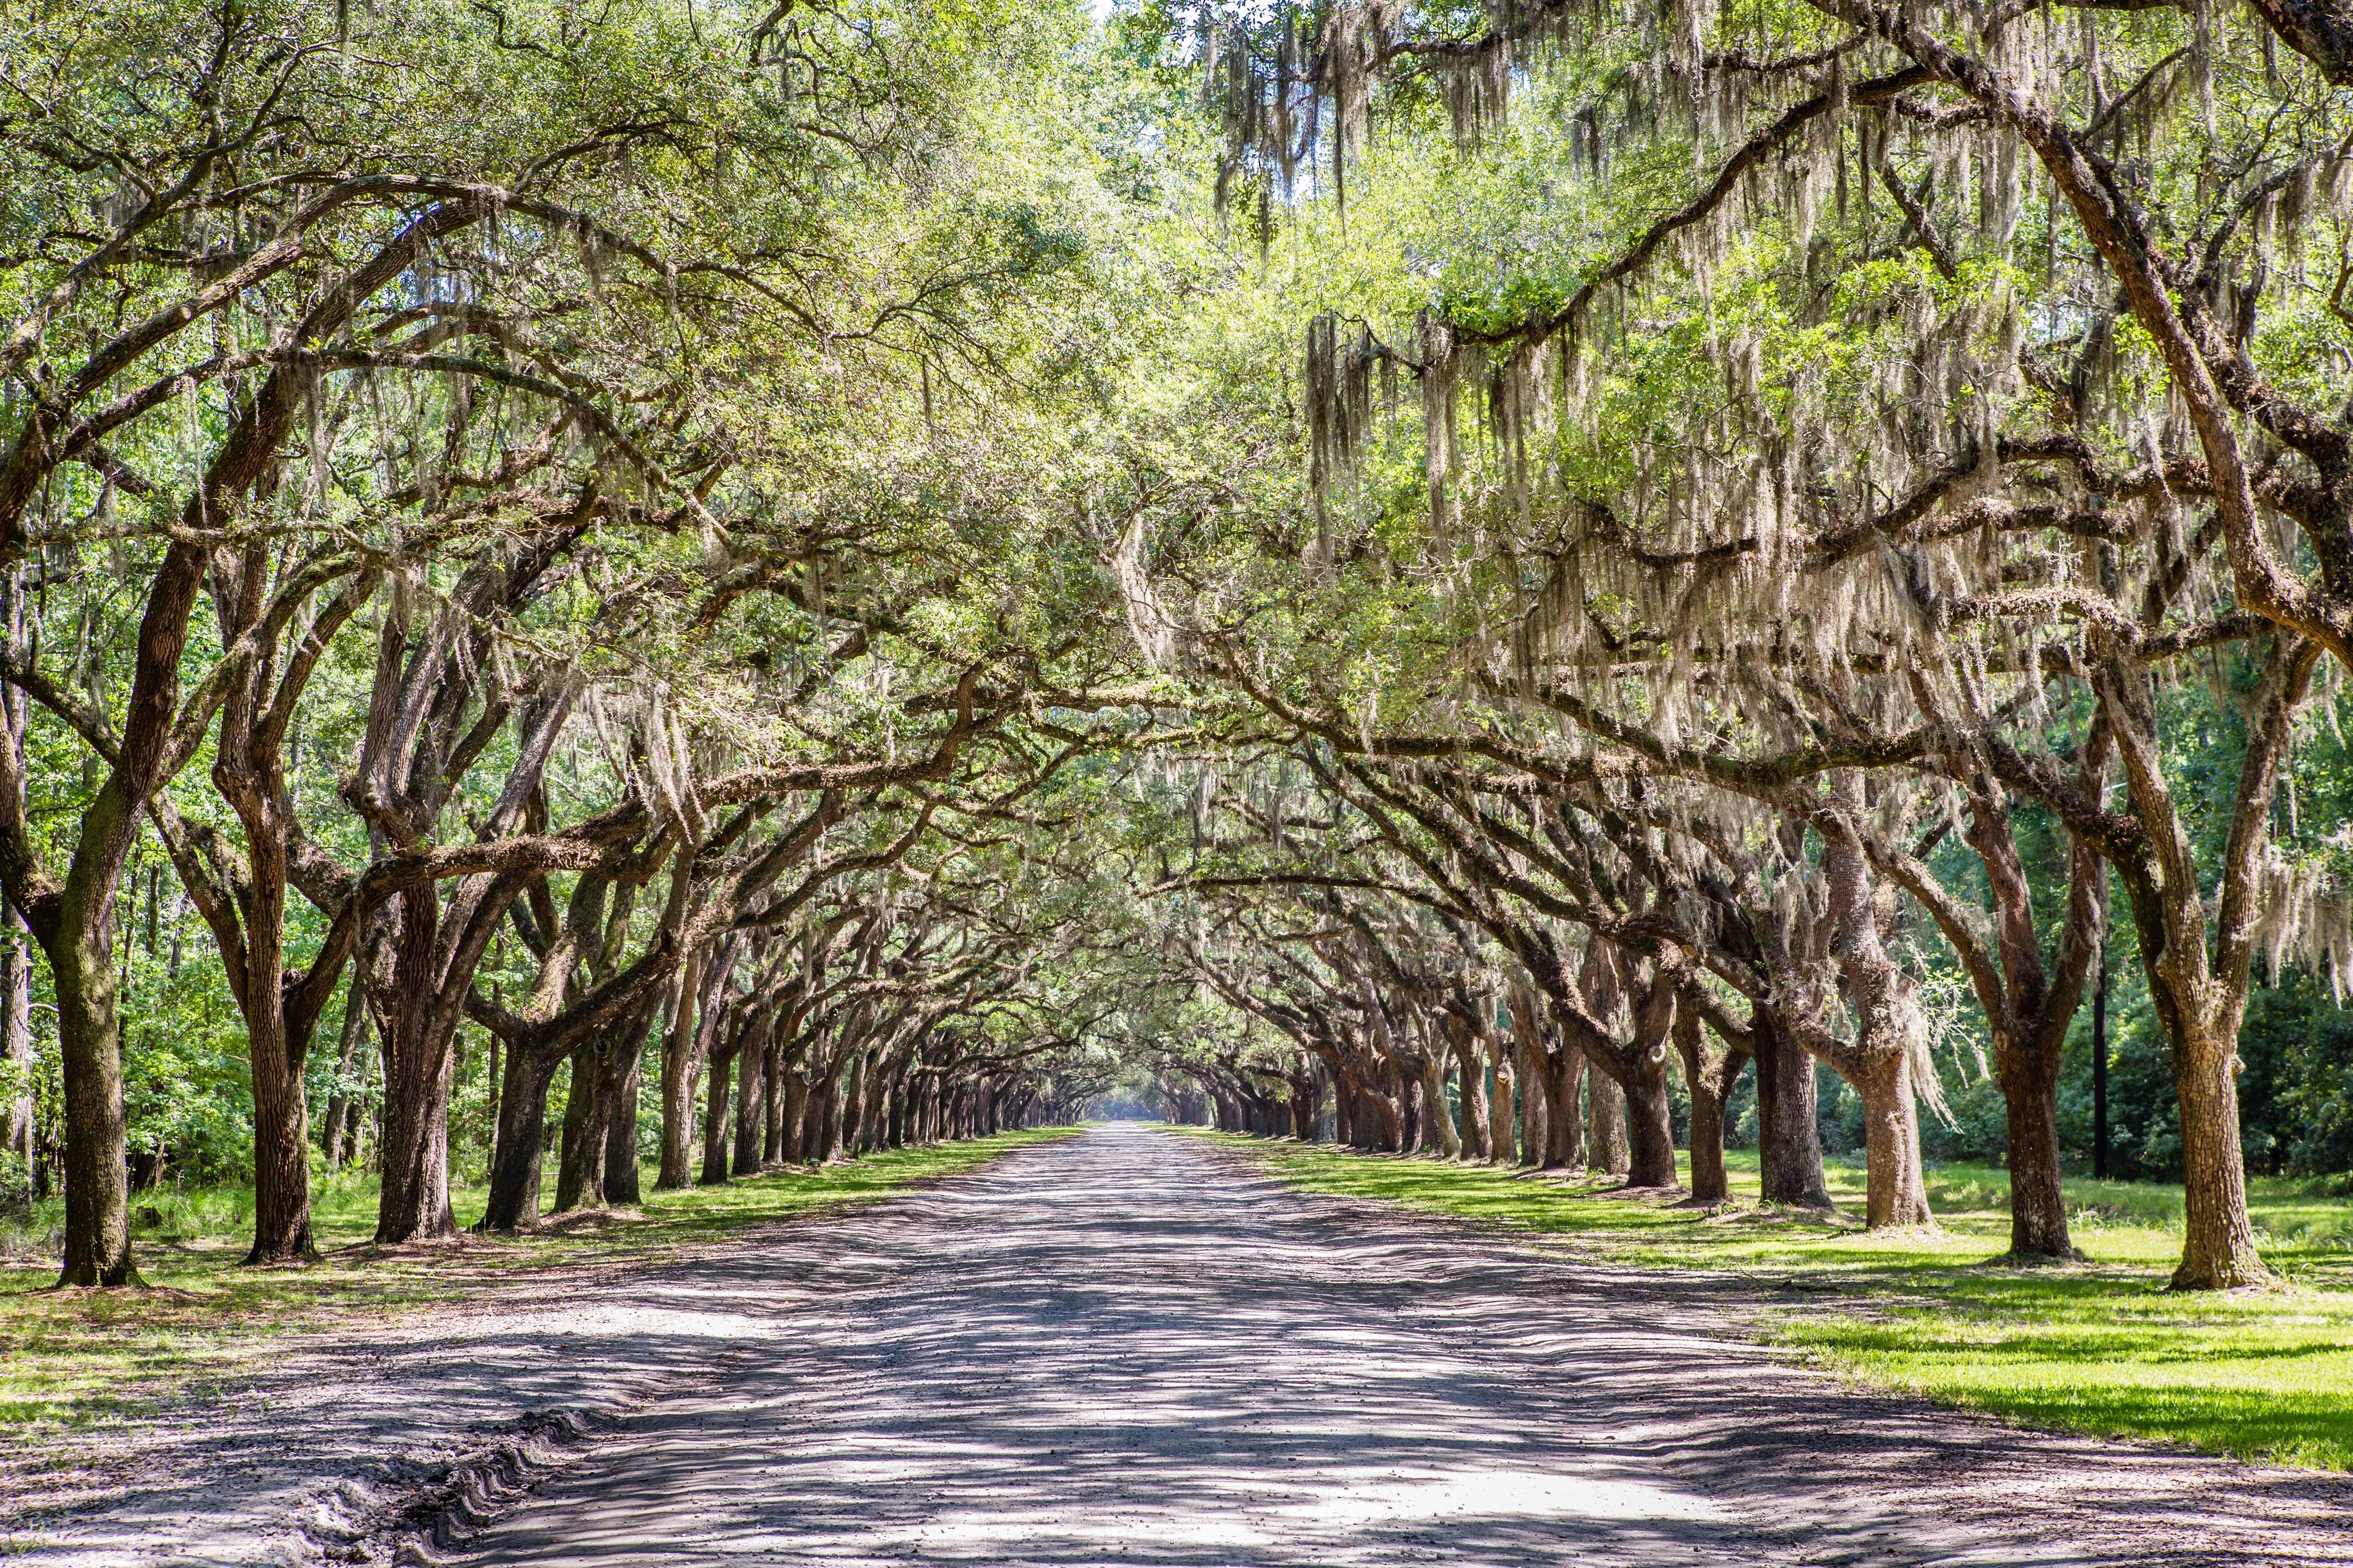
[[[696,1262],[289,1342],[108,1436],[118,1483],[0,1544],[75,1568],[2353,1563],[2344,1479],[1854,1394],[1729,1333],[1744,1291],[1113,1126]]]

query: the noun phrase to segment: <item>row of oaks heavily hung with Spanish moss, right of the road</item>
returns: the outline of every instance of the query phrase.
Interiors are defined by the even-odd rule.
[[[1268,284],[1299,369],[1224,404],[1297,407],[1308,501],[1228,465],[1247,538],[1195,489],[1122,552],[1139,642],[1292,778],[1228,790],[1162,884],[1179,966],[1384,1147],[1480,1138],[1485,1053],[1572,1159],[1581,1065],[1664,1185],[1680,1060],[1720,1194],[1701,1145],[1755,1063],[1765,1197],[1807,1204],[1821,1063],[1871,1222],[1922,1225],[1932,945],[2035,1260],[2071,1253],[2054,1086],[2127,924],[2179,1095],[2174,1284],[2264,1279],[2249,987],[2353,959],[2344,818],[2280,788],[2353,651],[2353,14],[1167,26],[1228,212],[1315,256]],[[2198,675],[2238,731],[2212,780],[2167,755]]]

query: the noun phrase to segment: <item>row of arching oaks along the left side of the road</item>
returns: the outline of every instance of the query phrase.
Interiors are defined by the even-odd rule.
[[[1101,595],[1026,475],[1075,428],[1047,355],[1106,324],[1101,212],[1014,113],[1066,28],[0,14],[0,886],[54,1006],[64,1284],[136,1279],[141,853],[235,1006],[256,1262],[315,1246],[339,1001],[379,1241],[452,1229],[464,1027],[504,1056],[492,1227],[536,1213],[562,1063],[558,1199],[633,1194],[656,1027],[664,1185],[732,1063],[706,1168],[1068,1110],[1068,1032],[1024,1020],[1073,1016],[1035,954],[1075,936],[1021,816]]]

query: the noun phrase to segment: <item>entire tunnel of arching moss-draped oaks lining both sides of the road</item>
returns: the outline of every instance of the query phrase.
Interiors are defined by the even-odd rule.
[[[466,1060],[492,1227],[628,1194],[640,1074],[682,1185],[1115,1058],[1638,1187],[1682,1103],[1701,1199],[1753,1095],[1786,1204],[1819,1065],[1929,1225],[1955,1041],[2066,1258],[2122,976],[2177,1284],[2264,1279],[2242,1020],[2353,966],[2341,2],[0,28],[68,1284],[134,1276],[125,976],[233,1009],[144,1081],[245,1098],[256,1260],[322,1084],[447,1232]]]

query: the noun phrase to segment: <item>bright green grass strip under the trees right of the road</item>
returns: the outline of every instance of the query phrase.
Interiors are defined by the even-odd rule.
[[[1595,1180],[1181,1131],[1247,1150],[1301,1192],[1527,1229],[1595,1262],[1739,1274],[1755,1284],[1762,1335],[1873,1387],[2038,1427],[2353,1469],[2353,1201],[2311,1182],[2252,1182],[2285,1288],[2169,1295],[2181,1194],[2155,1185],[2071,1180],[2089,1262],[2005,1269],[1986,1265],[2009,1239],[2009,1182],[1991,1166],[1929,1173],[1941,1234],[1866,1237],[1760,1208],[1753,1154],[1732,1157],[1746,1199],[1711,1215],[1617,1199]],[[1861,1208],[1864,1173],[1828,1175],[1833,1197]]]

